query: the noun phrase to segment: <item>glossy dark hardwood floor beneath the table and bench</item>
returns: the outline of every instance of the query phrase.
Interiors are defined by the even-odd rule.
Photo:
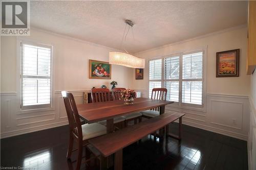
[[[177,131],[178,124],[170,125],[170,132]],[[123,169],[248,169],[246,141],[186,125],[182,136],[180,144],[148,135],[130,145],[123,150]],[[68,126],[2,139],[1,166],[72,169],[75,162],[66,159],[68,141]],[[97,169],[97,164],[92,161],[88,169]],[[86,169],[84,164],[81,169]]]

